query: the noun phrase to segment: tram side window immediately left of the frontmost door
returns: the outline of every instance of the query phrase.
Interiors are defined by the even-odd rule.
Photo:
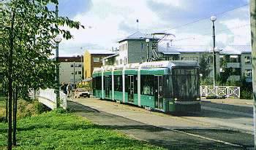
[[[154,95],[154,76],[141,76],[140,92],[142,95]]]

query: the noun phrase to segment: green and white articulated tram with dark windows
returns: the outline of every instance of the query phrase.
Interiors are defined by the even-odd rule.
[[[95,68],[93,95],[154,110],[200,111],[196,61],[157,61]]]

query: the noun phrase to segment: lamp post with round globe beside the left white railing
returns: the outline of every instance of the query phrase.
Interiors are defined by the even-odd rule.
[[[56,38],[54,38],[54,42],[56,43],[56,82],[57,82],[57,85],[56,85],[56,95],[57,95],[57,98],[56,98],[56,106],[59,107],[59,43],[61,42],[61,36],[56,36]]]

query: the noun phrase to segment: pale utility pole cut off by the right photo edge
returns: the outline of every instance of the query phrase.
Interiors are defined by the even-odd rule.
[[[254,132],[256,133],[256,1],[250,1],[250,14],[251,14],[251,40],[252,40],[252,87],[254,99]],[[255,135],[255,134],[254,134]],[[256,135],[255,135],[255,149],[256,149]]]

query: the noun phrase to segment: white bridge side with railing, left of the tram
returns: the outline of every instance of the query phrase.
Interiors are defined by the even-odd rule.
[[[29,97],[31,99],[38,99],[39,103],[51,109],[57,108],[57,94],[55,89],[29,89]],[[67,109],[67,95],[62,91],[59,91],[59,106]]]

